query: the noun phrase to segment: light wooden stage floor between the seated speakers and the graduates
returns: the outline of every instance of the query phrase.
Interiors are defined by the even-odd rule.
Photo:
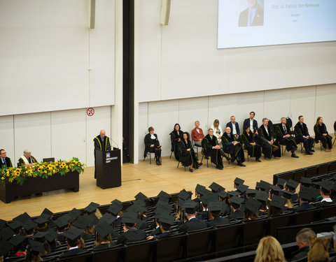
[[[237,163],[228,165],[224,162],[224,169],[218,170],[214,164],[204,159],[203,166],[190,173],[186,172],[183,166],[176,168],[177,161],[174,156],[162,158],[162,166],[156,166],[155,161],[149,164],[149,160],[140,161],[138,164],[127,163],[122,167],[122,186],[114,189],[100,189],[96,187],[94,180],[94,168],[85,168],[85,172],[80,174],[80,188],[78,192],[73,191],[51,191],[43,193],[42,196],[30,196],[18,198],[11,203],[5,204],[0,201],[0,219],[12,219],[22,212],[27,212],[31,217],[41,214],[44,208],[52,212],[62,212],[72,208],[85,208],[90,202],[100,205],[109,204],[113,199],[120,201],[133,200],[134,196],[141,191],[146,196],[157,196],[161,190],[167,193],[176,193],[181,189],[195,191],[197,183],[208,187],[215,181],[225,187],[226,190],[233,189],[235,177],[246,180],[245,184],[255,187],[255,182],[265,180],[272,183],[272,175],[287,170],[312,166],[318,163],[333,161],[336,159],[336,149],[331,152],[320,150],[320,145],[316,145],[314,155],[308,156],[297,150],[299,159],[290,157],[290,152],[286,152],[280,159],[264,159],[257,163],[255,159],[246,160],[246,167],[237,166]]]

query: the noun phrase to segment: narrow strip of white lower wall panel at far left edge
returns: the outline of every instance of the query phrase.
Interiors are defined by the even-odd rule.
[[[6,150],[7,157],[10,158],[14,166],[18,159],[15,159],[13,115],[0,117],[0,126],[0,149]]]

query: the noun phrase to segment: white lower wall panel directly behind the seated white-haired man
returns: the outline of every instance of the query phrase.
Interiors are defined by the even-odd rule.
[[[37,161],[51,157],[50,112],[14,116],[15,159],[18,163],[23,150],[31,150]]]

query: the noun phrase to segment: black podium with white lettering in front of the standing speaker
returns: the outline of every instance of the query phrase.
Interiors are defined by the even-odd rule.
[[[121,186],[120,150],[113,147],[110,151],[95,150],[97,187],[109,189]]]

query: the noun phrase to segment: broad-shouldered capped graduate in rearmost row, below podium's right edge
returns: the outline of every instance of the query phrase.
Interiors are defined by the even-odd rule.
[[[125,212],[122,221],[124,223],[124,233],[118,236],[117,245],[146,239],[146,232],[136,228],[137,213]]]

